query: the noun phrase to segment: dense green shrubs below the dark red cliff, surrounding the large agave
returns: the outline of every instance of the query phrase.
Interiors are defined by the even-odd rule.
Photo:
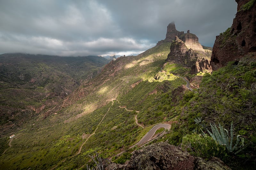
[[[256,158],[254,149],[256,146],[256,79],[253,75],[254,68],[249,66],[253,65],[250,64],[253,62],[244,57],[238,64],[229,62],[226,67],[212,72],[212,75],[205,73],[199,92],[196,94],[185,93],[183,100],[180,101],[179,107],[182,109],[176,109],[179,111],[180,124],[172,125],[169,143],[182,144],[192,154],[205,158],[209,158],[210,154],[207,155],[207,152],[209,152],[232,167],[252,168],[254,166],[253,160]],[[211,126],[207,125],[211,124],[211,122],[220,122],[223,127],[230,126],[233,122],[232,130],[230,129],[231,138],[230,140],[225,140],[229,142],[225,143],[229,147],[228,149],[232,146],[231,153],[228,149],[224,151],[219,144],[214,144],[214,140],[210,140],[209,136],[204,138],[198,135],[201,133],[200,129],[203,128],[206,131],[206,129],[211,128]],[[217,129],[214,129],[217,133]],[[221,131],[223,138],[227,139],[225,136],[226,130],[222,129]],[[196,134],[192,134],[192,132]],[[219,133],[222,136],[221,132]],[[237,140],[233,139],[233,136],[237,135],[241,136],[238,136]],[[240,142],[243,138],[246,148]],[[240,142],[240,144],[236,144],[236,142]],[[191,146],[189,146],[190,143]],[[235,144],[234,146],[233,143]],[[243,149],[241,151],[240,145]],[[200,148],[199,146],[202,147]],[[208,149],[208,146],[212,146],[212,150]],[[238,147],[237,150],[236,146]],[[235,159],[231,159],[232,157]]]

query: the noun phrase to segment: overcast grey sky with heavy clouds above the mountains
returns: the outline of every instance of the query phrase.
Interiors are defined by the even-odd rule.
[[[137,55],[167,25],[213,46],[232,25],[235,0],[0,0],[0,54]]]

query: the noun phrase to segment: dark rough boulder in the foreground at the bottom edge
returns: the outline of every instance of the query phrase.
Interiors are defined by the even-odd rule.
[[[124,170],[231,170],[220,159],[213,157],[206,161],[199,157],[191,156],[179,147],[167,144],[151,144],[135,151],[126,165],[110,164],[106,169]],[[118,168],[117,168],[118,167]]]

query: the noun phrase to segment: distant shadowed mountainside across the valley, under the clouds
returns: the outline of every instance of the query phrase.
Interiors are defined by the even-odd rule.
[[[0,55],[1,135],[57,105],[107,62],[98,56]]]

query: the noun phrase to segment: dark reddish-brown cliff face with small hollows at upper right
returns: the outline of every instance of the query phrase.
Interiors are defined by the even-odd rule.
[[[216,36],[212,50],[213,70],[229,61],[249,55],[256,58],[256,3],[255,0],[236,0],[237,13],[231,28]]]

